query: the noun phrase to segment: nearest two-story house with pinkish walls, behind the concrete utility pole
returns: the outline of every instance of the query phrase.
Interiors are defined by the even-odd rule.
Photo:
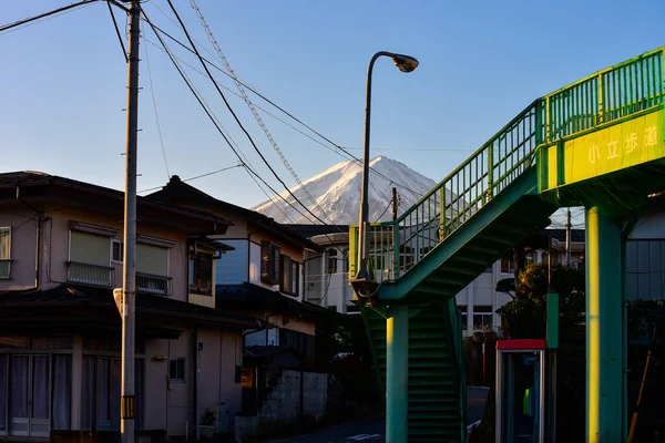
[[[73,179],[0,174],[0,439],[120,429],[123,202]],[[206,411],[241,408],[242,331],[264,322],[208,307],[233,248],[206,236],[231,226],[139,198],[139,430],[196,435]]]

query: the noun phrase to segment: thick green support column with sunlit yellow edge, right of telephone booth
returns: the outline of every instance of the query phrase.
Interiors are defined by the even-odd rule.
[[[621,226],[586,212],[586,442],[625,441],[622,432]]]

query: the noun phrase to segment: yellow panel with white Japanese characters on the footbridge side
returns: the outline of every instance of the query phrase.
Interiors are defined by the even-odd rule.
[[[565,184],[665,157],[665,110],[565,142]]]

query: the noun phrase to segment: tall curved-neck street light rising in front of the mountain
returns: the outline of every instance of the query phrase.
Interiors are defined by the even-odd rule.
[[[378,58],[387,55],[392,59],[395,65],[401,72],[412,72],[418,68],[418,60],[410,55],[395,54],[392,52],[380,51],[374,54],[369,61],[369,68],[367,69],[367,94],[365,103],[365,148],[362,157],[362,189],[360,194],[360,223],[359,223],[359,235],[358,235],[358,274],[356,275],[356,281],[359,284],[369,282],[371,276],[367,270],[367,225],[369,217],[369,202],[368,202],[368,186],[369,186],[369,115],[371,109],[371,71],[374,63]]]

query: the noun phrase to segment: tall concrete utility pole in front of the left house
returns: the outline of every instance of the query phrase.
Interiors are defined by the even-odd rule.
[[[127,146],[124,199],[124,257],[122,284],[122,400],[121,442],[134,443],[134,346],[136,297],[136,135],[139,125],[139,0],[130,6],[130,53],[127,54]]]

